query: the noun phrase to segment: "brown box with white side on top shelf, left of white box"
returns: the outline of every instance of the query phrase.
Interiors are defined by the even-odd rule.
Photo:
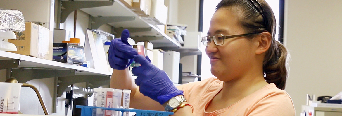
[[[133,0],[132,10],[139,15],[151,14],[151,0]]]

